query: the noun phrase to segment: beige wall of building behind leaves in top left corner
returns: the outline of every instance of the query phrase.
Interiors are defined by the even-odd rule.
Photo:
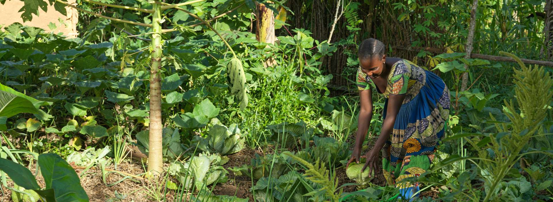
[[[45,1],[45,0],[33,0],[33,1]],[[75,0],[67,1],[69,3],[75,3]],[[48,3],[48,5],[50,5]],[[63,33],[65,36],[75,37],[77,35],[76,25],[77,25],[77,12],[71,7],[66,7],[67,16],[62,15],[60,12],[55,10],[54,6],[48,6],[48,12],[39,8],[39,16],[37,17],[33,14],[33,20],[23,23],[21,18],[21,13],[18,12],[19,9],[23,7],[23,2],[19,0],[7,0],[3,5],[0,4],[0,26],[4,28],[5,26],[11,25],[12,23],[21,23],[27,26],[35,26],[42,28],[46,31],[53,31],[54,33]],[[66,24],[69,27],[66,27],[64,24],[59,22],[59,18],[65,20]],[[52,22],[56,24],[57,28],[55,30],[50,30],[48,24]]]

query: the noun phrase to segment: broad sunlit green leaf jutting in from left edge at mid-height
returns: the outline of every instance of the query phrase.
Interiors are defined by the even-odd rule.
[[[12,117],[19,113],[38,113],[33,103],[15,94],[0,89],[0,116]]]

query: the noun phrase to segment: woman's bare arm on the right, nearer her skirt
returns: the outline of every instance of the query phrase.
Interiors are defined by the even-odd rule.
[[[388,136],[390,135],[390,132],[392,132],[394,128],[395,118],[399,113],[399,109],[401,108],[401,104],[403,104],[403,99],[405,99],[405,94],[390,94],[388,98],[388,107],[386,111],[386,119],[384,119],[384,123],[382,124],[382,130],[380,130],[380,135],[378,136],[378,139],[376,142],[374,142],[374,147],[369,150],[365,155],[362,157],[366,157],[367,161],[365,162],[365,165],[363,166],[363,169],[361,169],[361,172],[369,166],[369,173],[372,173],[372,171],[376,171],[377,169],[377,162],[378,161],[378,152],[382,149],[382,146],[384,146],[384,143],[388,139]]]

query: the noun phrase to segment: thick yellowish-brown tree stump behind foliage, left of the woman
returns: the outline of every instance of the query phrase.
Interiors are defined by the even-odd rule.
[[[265,4],[258,3],[255,10],[255,17],[257,17],[257,26],[255,30],[255,39],[259,42],[266,42],[268,44],[274,44],[276,40],[275,36],[275,17],[273,10],[268,9]],[[265,67],[273,66],[275,60],[273,57],[269,57],[264,62]]]

